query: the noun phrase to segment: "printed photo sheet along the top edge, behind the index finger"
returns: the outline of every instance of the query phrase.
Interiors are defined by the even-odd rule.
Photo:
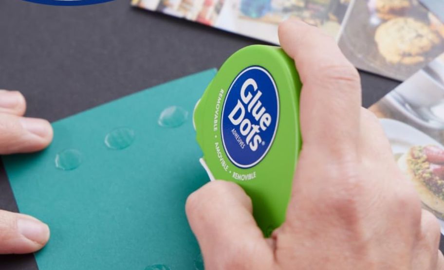
[[[334,36],[358,69],[405,80],[444,52],[439,19],[444,4],[420,1],[132,0],[132,5],[273,44],[279,44],[278,24],[299,18]]]

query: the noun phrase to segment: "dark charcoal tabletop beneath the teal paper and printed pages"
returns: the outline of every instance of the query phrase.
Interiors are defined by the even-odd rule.
[[[194,72],[220,67],[262,43],[131,8],[130,0],[81,6],[0,1],[0,89],[20,90],[27,115],[50,121]],[[399,82],[361,72],[370,106]],[[18,211],[0,163],[0,209]],[[0,269],[37,269],[34,256],[0,256]]]

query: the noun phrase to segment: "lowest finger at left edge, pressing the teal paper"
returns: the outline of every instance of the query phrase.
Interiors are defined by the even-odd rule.
[[[48,239],[48,225],[32,216],[0,210],[0,254],[35,252]]]

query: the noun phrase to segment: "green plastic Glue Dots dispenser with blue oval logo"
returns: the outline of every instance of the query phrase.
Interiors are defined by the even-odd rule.
[[[268,236],[285,220],[298,153],[301,82],[279,47],[254,45],[222,65],[194,111],[201,163],[238,183]]]

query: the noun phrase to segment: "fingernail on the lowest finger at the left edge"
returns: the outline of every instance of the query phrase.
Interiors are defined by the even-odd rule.
[[[19,233],[27,239],[44,245],[49,239],[49,227],[43,222],[20,218],[17,220]]]

